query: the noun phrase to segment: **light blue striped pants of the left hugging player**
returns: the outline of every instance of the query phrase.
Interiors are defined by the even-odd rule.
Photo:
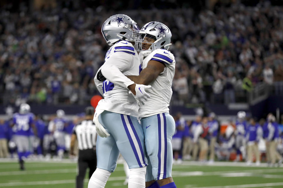
[[[104,111],[98,120],[110,136],[97,137],[97,168],[114,172],[120,152],[129,169],[147,166],[144,133],[136,117]]]

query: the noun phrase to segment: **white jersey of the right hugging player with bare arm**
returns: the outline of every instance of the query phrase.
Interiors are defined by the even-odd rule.
[[[140,56],[140,58],[143,58]],[[141,63],[141,68],[147,67],[150,60],[159,61],[165,65],[164,71],[150,83],[151,88],[147,90],[150,95],[148,101],[139,108],[139,117],[149,117],[159,113],[169,113],[169,103],[172,96],[172,81],[175,75],[175,57],[165,49],[157,49],[150,53]]]

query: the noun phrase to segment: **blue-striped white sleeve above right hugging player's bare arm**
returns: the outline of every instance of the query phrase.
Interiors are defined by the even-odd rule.
[[[163,63],[165,66],[170,66],[175,62],[174,55],[165,49],[157,49],[154,52],[154,55],[150,60],[159,61]]]

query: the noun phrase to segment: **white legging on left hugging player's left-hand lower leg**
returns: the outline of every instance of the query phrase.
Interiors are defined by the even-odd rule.
[[[96,168],[88,182],[88,188],[104,188],[110,175],[108,170]]]

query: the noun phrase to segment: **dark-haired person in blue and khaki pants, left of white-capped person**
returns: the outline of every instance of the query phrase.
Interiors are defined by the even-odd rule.
[[[246,140],[248,141],[248,161],[247,165],[253,162],[253,155],[256,157],[256,165],[260,164],[260,153],[258,142],[262,137],[262,128],[258,125],[254,118],[251,118],[249,126],[247,128]]]

